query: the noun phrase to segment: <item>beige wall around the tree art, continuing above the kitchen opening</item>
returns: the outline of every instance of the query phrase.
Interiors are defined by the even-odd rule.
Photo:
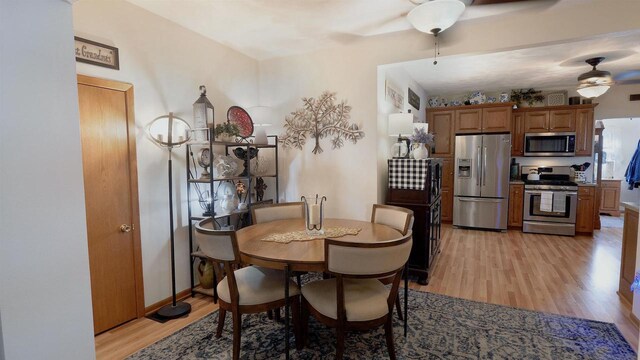
[[[637,16],[632,14],[640,13],[640,1],[585,0],[564,4],[569,5],[460,22],[442,34],[441,54],[504,51],[606,36],[638,27]],[[367,218],[372,203],[384,201],[389,145],[384,135],[386,113],[376,104],[380,91],[376,82],[378,66],[431,57],[431,46],[427,35],[405,31],[260,63],[260,102],[276,108],[279,115],[272,131],[280,130],[284,116],[297,108],[300,97],[316,96],[326,89],[349,99],[354,121],[361,122],[367,134],[356,145],[325,151],[321,156],[311,155],[310,148],[288,152],[282,163],[291,164],[283,179],[288,199],[301,192],[322,192],[330,198],[331,215],[359,219]]]

